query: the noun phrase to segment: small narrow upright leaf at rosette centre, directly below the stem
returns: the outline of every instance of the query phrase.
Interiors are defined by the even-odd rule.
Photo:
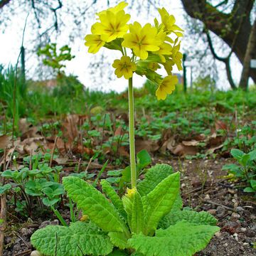
[[[142,197],[138,192],[134,193],[134,201],[132,203],[132,233],[139,234],[144,230],[144,209]]]

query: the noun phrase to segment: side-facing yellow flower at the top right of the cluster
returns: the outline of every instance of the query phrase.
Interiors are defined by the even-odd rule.
[[[173,15],[170,15],[164,7],[162,9],[158,9],[159,14],[161,16],[161,21],[164,24],[165,31],[167,33],[174,32],[176,36],[183,36],[183,33],[179,32],[182,31],[183,29],[179,28],[177,25],[175,25],[175,18]]]

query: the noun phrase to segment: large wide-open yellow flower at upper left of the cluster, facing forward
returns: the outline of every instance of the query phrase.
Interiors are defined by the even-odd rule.
[[[103,41],[110,42],[116,38],[122,38],[127,33],[129,28],[127,22],[131,16],[125,14],[124,11],[118,11],[117,13],[106,11],[106,13],[100,14],[99,17],[100,22],[92,26],[92,33],[100,35]]]

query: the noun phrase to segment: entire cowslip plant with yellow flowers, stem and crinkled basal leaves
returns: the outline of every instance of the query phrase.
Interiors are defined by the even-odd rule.
[[[182,210],[180,174],[174,173],[171,166],[156,164],[146,171],[143,181],[138,179],[137,166],[142,161],[136,164],[135,159],[132,75],[146,75],[156,82],[156,96],[165,99],[176,83],[171,67],[181,65],[177,38],[182,30],[164,8],[159,9],[160,24],[155,19],[154,26],[138,22],[128,25],[130,16],[124,12],[125,6],[121,2],[98,13],[99,22],[92,26],[92,34],[85,37],[85,45],[90,53],[97,53],[102,46],[122,53],[113,67],[117,77],[129,80],[131,188],[119,198],[107,180],[101,181],[101,193],[81,178],[63,178],[68,197],[87,218],[68,227],[49,225],[37,230],[31,242],[43,255],[193,255],[206,247],[219,230],[215,226],[217,220],[209,213]],[[169,37],[171,33],[176,36],[174,41]],[[129,49],[132,57],[127,55]],[[159,64],[168,73],[164,79],[155,72]]]

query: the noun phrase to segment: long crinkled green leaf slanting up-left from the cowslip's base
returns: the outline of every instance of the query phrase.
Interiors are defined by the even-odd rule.
[[[102,230],[123,232],[126,229],[114,206],[92,185],[78,177],[63,178],[63,185],[78,208]]]

